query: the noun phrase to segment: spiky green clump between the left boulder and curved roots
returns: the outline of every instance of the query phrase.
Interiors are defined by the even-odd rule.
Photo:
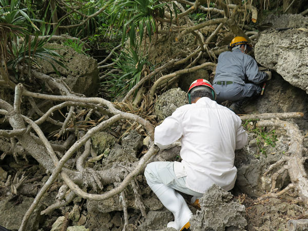
[[[136,85],[150,63],[146,60],[146,56],[139,56],[137,51],[130,48],[129,50],[121,51],[114,68],[119,69],[118,74],[111,74],[102,85],[106,86],[108,94],[111,98],[119,97],[125,92],[128,92]]]

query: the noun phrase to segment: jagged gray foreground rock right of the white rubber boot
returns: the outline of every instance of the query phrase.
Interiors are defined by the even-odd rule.
[[[245,206],[218,185],[211,186],[199,200],[201,210],[190,219],[192,231],[245,230]]]

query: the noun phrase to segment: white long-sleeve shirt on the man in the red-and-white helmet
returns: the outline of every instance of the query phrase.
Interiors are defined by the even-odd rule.
[[[187,175],[187,188],[204,193],[213,184],[234,187],[234,151],[247,144],[247,134],[232,110],[207,97],[179,107],[155,128],[155,144],[166,149],[179,138],[182,162],[174,168],[178,178]]]

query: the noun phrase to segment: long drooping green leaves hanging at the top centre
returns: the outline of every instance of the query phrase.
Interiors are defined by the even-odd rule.
[[[152,34],[157,30],[155,15],[163,15],[165,4],[160,4],[158,0],[113,0],[109,2],[112,2],[111,27],[122,28],[122,42],[128,35],[130,45],[136,47],[137,31],[139,31],[140,41],[145,33],[151,40]]]

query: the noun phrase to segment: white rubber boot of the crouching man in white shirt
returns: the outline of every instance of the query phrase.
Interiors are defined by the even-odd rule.
[[[156,196],[162,204],[174,215],[175,220],[167,224],[167,227],[172,227],[177,230],[182,230],[184,227],[190,226],[189,219],[192,216],[184,198],[175,189],[164,184],[153,184],[150,188],[155,192]]]

